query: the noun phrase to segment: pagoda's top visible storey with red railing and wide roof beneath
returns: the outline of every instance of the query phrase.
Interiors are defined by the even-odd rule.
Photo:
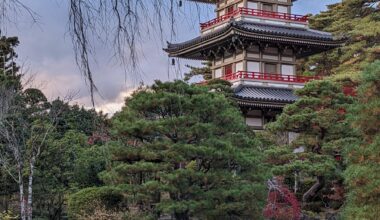
[[[340,46],[332,34],[310,29],[308,17],[291,14],[292,0],[193,0],[216,4],[216,18],[201,23],[201,35],[168,43],[171,57],[214,60],[233,50],[291,49],[296,58]]]

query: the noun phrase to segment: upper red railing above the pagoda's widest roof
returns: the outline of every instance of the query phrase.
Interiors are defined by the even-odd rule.
[[[307,15],[295,15],[295,14],[287,14],[287,13],[281,13],[281,12],[263,11],[263,10],[251,9],[251,8],[238,8],[231,13],[214,18],[211,21],[201,23],[201,29],[204,30],[206,28],[214,26],[215,24],[229,20],[238,15],[275,18],[275,19],[280,19],[280,20],[296,21],[296,22],[302,22],[302,23],[307,23],[309,21],[309,17]]]

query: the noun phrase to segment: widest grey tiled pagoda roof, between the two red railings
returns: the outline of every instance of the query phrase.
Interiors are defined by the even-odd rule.
[[[168,43],[171,57],[212,60],[225,52],[275,46],[291,49],[296,58],[339,47],[344,41],[332,34],[307,27],[292,27],[256,21],[229,20],[223,27],[183,43]]]

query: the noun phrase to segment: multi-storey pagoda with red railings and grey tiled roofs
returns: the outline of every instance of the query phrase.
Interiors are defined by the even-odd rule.
[[[200,24],[200,36],[168,43],[170,57],[208,60],[213,78],[232,83],[246,122],[263,129],[317,76],[296,75],[296,60],[339,47],[342,40],[309,28],[292,14],[295,0],[192,0],[216,5],[216,18]]]

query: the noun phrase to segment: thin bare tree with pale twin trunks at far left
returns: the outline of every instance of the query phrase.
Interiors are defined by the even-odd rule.
[[[11,93],[11,92],[10,92]],[[48,115],[49,109],[43,107],[46,98],[38,89],[27,89],[22,94],[8,96],[18,99],[19,96],[39,96],[40,100],[26,105],[10,105],[0,118],[0,166],[18,184],[21,219],[31,220],[33,217],[33,180],[38,158],[46,146],[47,138],[56,128],[60,111]],[[40,93],[40,94],[39,94]],[[70,100],[67,100],[69,102]],[[15,100],[8,100],[15,103]],[[40,105],[40,107],[36,107]],[[19,107],[25,108],[20,110]],[[32,111],[28,111],[32,109]],[[30,114],[30,115],[28,115]],[[28,115],[28,116],[26,116]],[[14,174],[13,171],[16,171]]]

